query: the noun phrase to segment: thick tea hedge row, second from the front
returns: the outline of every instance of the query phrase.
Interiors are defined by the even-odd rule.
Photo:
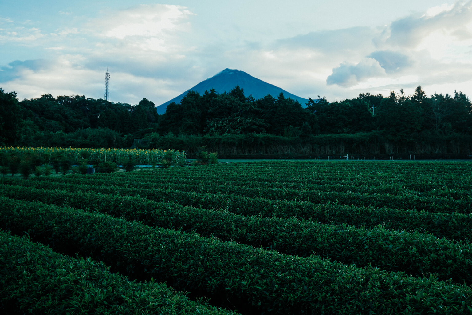
[[[283,255],[101,213],[0,198],[1,224],[115,271],[271,314],[472,314],[468,286]]]

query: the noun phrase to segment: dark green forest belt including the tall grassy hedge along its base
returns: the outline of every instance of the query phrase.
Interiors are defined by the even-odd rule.
[[[408,96],[367,92],[303,105],[283,94],[254,99],[236,86],[222,94],[190,91],[159,115],[146,98],[136,105],[84,95],[19,101],[0,88],[0,145],[139,146],[190,155],[205,146],[228,157],[472,153],[472,105],[462,92],[427,96],[418,86]]]

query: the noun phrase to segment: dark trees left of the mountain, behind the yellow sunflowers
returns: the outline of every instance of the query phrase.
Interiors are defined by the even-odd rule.
[[[113,103],[85,96],[44,94],[19,102],[0,89],[0,145],[122,147],[134,134],[156,130],[154,103]],[[131,144],[129,144],[131,142]]]

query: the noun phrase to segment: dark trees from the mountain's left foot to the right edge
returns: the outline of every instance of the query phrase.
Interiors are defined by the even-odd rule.
[[[303,108],[283,94],[254,100],[245,97],[239,86],[223,94],[214,90],[203,95],[191,91],[179,104],[169,104],[158,130],[162,134],[281,136],[379,131],[392,140],[472,134],[471,102],[462,92],[428,98],[418,86],[411,96],[405,96],[403,90],[399,94],[391,92],[388,97],[367,92],[341,102],[310,99],[305,105]]]

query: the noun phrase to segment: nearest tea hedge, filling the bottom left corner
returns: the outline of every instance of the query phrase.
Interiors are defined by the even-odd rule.
[[[152,281],[129,281],[90,258],[60,255],[0,230],[3,314],[233,314]]]

